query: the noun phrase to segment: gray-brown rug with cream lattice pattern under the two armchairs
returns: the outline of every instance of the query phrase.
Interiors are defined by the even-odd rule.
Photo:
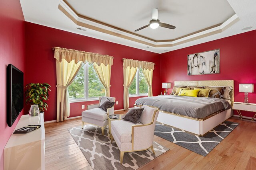
[[[85,125],[84,129],[72,127],[68,131],[94,170],[138,169],[169,150],[154,142],[153,147],[156,154],[152,154],[151,150],[124,153],[121,165],[120,150],[114,141],[110,142],[106,129],[104,135],[102,135],[101,127],[94,125]]]

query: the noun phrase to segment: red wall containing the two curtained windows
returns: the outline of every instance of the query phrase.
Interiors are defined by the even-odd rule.
[[[152,84],[153,95],[156,96],[160,93],[159,54],[26,22],[25,83],[47,82],[52,86],[48,101],[49,108],[45,112],[45,121],[56,120],[56,66],[52,47],[65,47],[113,56],[110,95],[116,97],[116,101],[118,101],[115,109],[123,109],[122,58],[156,63]],[[133,106],[135,100],[136,98],[130,98],[130,107]],[[70,117],[81,115],[84,110],[82,104],[87,106],[95,103],[98,101],[71,103]],[[86,106],[85,108],[87,108]]]

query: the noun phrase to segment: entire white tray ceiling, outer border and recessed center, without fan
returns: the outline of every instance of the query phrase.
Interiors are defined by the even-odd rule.
[[[20,0],[25,21],[155,53],[165,53],[167,51],[173,51],[256,29],[255,0],[66,0],[65,2],[62,0]],[[93,23],[97,27],[111,29],[116,33],[154,45],[170,44],[174,43],[174,41],[157,43],[143,37],[153,40],[171,40],[206,29],[207,27],[212,27],[216,24],[224,23],[232,16],[236,16],[240,20],[225,30],[223,27],[219,26],[218,29],[222,30],[222,32],[208,37],[195,39],[189,42],[184,41],[184,43],[180,43],[173,47],[154,47],[154,45],[145,45],[145,43],[140,43],[139,41],[136,42],[110,35],[94,29],[89,29],[88,27],[82,27],[86,29],[86,31],[78,30],[76,29],[78,25],[70,20],[70,18],[58,8],[59,4],[65,4],[67,9],[70,7],[72,10],[69,9],[69,13],[73,16],[79,16],[80,14],[108,25],[124,29],[128,31],[128,33],[118,29],[109,28],[106,25]],[[163,27],[151,29],[148,27],[138,32],[134,32],[135,29],[148,24],[151,20],[152,8],[158,8],[158,19],[160,22],[174,25],[176,26],[176,29],[172,30]],[[82,21],[83,19],[78,17],[78,20]],[[90,23],[92,23],[92,21],[90,21]],[[252,26],[252,29],[246,31],[241,30],[248,26]],[[217,29],[217,27],[212,28],[212,30],[215,29]],[[206,30],[204,32],[209,31],[210,30]],[[136,33],[140,36],[129,32]],[[183,39],[188,37],[189,36]],[[146,48],[146,46],[149,46],[149,48]]]

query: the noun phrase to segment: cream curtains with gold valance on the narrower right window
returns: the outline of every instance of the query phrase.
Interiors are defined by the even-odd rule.
[[[146,84],[148,85],[148,96],[153,96],[152,80],[154,63],[146,61],[138,61],[133,59],[123,59],[124,71],[124,110],[129,108],[129,88],[136,75],[137,69],[142,68]]]

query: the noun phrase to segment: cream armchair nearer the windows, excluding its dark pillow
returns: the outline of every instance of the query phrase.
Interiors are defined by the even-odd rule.
[[[100,97],[100,104],[105,100],[109,99],[111,102],[115,102],[116,98],[113,97]],[[102,129],[102,134],[104,135],[104,128],[108,125],[108,116],[114,114],[114,106],[104,111],[99,108],[100,104],[92,104],[87,106],[87,110],[82,111],[82,129],[84,128],[84,123],[90,123],[93,125],[100,126]]]

